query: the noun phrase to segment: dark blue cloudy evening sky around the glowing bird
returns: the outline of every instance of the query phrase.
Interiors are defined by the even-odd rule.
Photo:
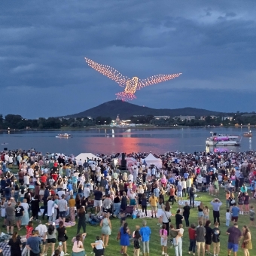
[[[136,92],[151,108],[255,111],[254,0],[0,3],[0,113],[75,114],[123,90],[84,57],[130,78],[182,73]]]

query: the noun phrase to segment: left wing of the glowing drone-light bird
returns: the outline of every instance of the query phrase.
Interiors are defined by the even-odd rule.
[[[118,72],[116,69],[113,69],[110,66],[105,66],[97,62],[94,62],[92,59],[88,59],[88,58],[84,58],[84,59],[87,62],[88,66],[95,69],[97,72],[101,73],[102,75],[105,75],[108,78],[114,80],[115,82],[117,82],[117,84],[120,85],[120,87],[126,86],[127,77],[120,74],[120,72]]]

